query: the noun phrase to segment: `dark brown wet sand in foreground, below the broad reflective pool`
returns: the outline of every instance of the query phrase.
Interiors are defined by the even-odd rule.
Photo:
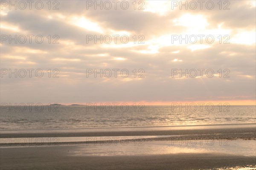
[[[77,146],[1,148],[1,170],[184,170],[256,164],[254,156],[178,153],[151,156],[73,156]],[[93,150],[92,150],[93,151]]]

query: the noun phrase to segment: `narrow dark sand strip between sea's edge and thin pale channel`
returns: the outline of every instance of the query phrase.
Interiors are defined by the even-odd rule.
[[[169,130],[125,130],[122,131],[73,131],[73,132],[49,132],[44,130],[38,133],[27,133],[27,132],[17,132],[17,133],[3,133],[1,131],[1,138],[21,138],[21,137],[74,137],[74,136],[158,136],[158,135],[204,135],[204,134],[245,134],[245,133],[256,133],[255,127],[233,127],[233,128],[207,128],[204,129],[172,129]],[[255,136],[255,135],[254,135]]]

